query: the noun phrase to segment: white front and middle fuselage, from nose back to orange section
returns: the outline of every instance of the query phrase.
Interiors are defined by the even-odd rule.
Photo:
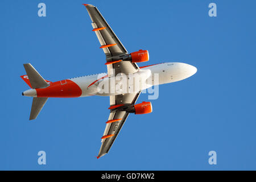
[[[137,93],[154,85],[184,80],[197,72],[196,67],[185,63],[161,63],[142,67],[130,75],[118,74],[108,77],[107,73],[71,78],[82,90],[80,97],[113,96]]]

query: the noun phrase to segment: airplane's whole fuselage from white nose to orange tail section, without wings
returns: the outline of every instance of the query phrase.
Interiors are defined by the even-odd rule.
[[[154,85],[180,81],[196,73],[197,69],[185,63],[160,63],[144,66],[131,75],[109,77],[107,73],[51,82],[46,88],[30,89],[24,96],[32,97],[86,97],[113,96],[139,92]]]

